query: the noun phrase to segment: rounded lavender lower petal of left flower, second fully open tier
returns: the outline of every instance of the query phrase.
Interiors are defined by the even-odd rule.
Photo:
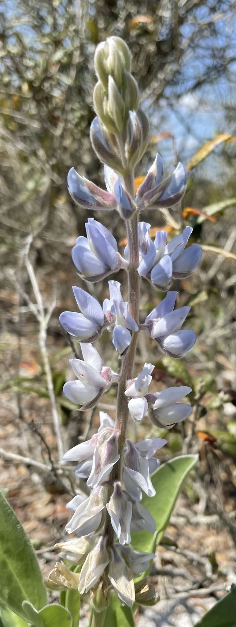
[[[86,340],[98,334],[98,324],[77,312],[63,312],[59,315],[59,322],[69,335],[77,337],[78,340]]]

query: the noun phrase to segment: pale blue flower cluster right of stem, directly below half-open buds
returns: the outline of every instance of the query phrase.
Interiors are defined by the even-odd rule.
[[[185,250],[192,228],[187,226],[167,244],[167,231],[156,231],[155,240],[150,238],[150,224],[138,224],[140,265],[138,273],[150,280],[160,289],[167,289],[172,278],[188,277],[196,270],[201,258],[202,248],[192,244]],[[128,246],[125,257],[128,260]]]

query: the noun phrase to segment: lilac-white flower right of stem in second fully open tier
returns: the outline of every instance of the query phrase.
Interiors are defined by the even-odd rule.
[[[170,357],[183,357],[196,342],[192,330],[180,330],[190,307],[180,307],[173,311],[177,292],[167,296],[148,314],[140,329],[147,329],[160,348]]]

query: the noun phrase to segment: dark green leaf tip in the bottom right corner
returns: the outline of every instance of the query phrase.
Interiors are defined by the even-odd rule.
[[[236,627],[236,586],[232,586],[195,627]]]

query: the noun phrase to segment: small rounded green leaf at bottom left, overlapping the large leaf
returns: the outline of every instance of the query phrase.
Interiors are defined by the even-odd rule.
[[[24,601],[23,609],[34,627],[73,627],[71,614],[61,605],[52,603],[37,612],[31,603]]]

